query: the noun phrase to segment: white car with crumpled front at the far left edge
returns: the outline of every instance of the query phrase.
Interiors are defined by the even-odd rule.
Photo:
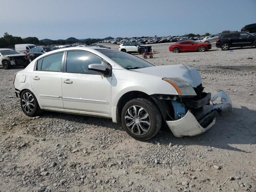
[[[0,49],[0,66],[10,69],[13,66],[28,66],[30,61],[24,54],[19,54],[12,49]]]

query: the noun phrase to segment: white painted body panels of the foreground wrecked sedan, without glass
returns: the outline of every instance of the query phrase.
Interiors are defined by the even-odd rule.
[[[16,92],[28,89],[33,92],[41,109],[100,116],[112,118],[117,122],[118,101],[132,91],[144,94],[166,94],[178,96],[177,90],[162,78],[180,78],[196,88],[202,83],[199,72],[185,65],[152,66],[127,70],[106,55],[92,47],[72,47],[54,50],[33,60],[24,70],[19,71],[14,79]],[[112,76],[78,74],[66,72],[36,71],[35,63],[40,58],[52,53],[68,50],[83,50],[96,54],[112,66]],[[109,49],[107,49],[109,50]],[[66,81],[66,82],[65,82]],[[223,92],[212,98],[222,98],[222,103],[215,104],[213,109],[232,109],[230,98]],[[166,121],[175,136],[193,136],[206,131],[215,123],[200,127],[194,115],[188,110],[179,120]]]

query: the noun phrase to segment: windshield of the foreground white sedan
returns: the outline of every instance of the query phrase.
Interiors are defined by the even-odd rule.
[[[117,51],[117,50],[106,50],[97,49],[98,52],[106,55],[108,58],[112,59],[114,62],[126,69],[139,69],[146,67],[153,67],[154,65],[146,62],[145,60],[138,58],[134,55]]]

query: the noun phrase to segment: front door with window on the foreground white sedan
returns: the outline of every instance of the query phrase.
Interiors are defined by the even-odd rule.
[[[88,70],[89,64],[104,64],[104,61],[89,52],[67,52],[66,72],[62,75],[64,109],[92,115],[110,114],[111,77]]]

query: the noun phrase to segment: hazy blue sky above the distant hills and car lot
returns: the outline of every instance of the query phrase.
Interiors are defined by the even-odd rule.
[[[215,34],[256,23],[256,0],[0,0],[4,32],[39,40]]]

